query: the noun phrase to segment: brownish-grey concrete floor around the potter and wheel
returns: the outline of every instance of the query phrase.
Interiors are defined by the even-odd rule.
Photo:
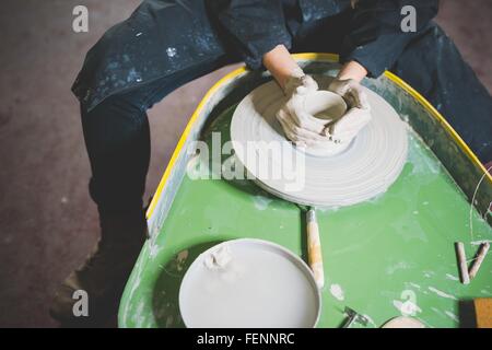
[[[0,327],[50,327],[56,285],[97,234],[77,100],[70,85],[86,50],[139,0],[4,0],[0,13]],[[90,32],[71,30],[77,4]],[[440,22],[492,91],[492,1],[442,0]],[[485,45],[487,43],[487,45]],[[175,91],[150,112],[151,195],[188,117],[231,67]],[[169,122],[172,120],[172,122]]]

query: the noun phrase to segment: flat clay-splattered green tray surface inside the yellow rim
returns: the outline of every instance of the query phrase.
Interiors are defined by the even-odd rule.
[[[209,127],[207,141],[210,131],[229,140],[233,112],[227,109]],[[491,240],[492,229],[472,209],[471,234],[470,205],[411,130],[408,161],[385,194],[351,207],[318,209],[317,214],[326,278],[318,327],[339,327],[344,306],[366,315],[367,327],[382,326],[401,310],[427,327],[457,327],[467,301],[492,296],[492,259],[464,285],[454,248],[454,242],[465,242],[472,259],[477,241]],[[215,243],[262,238],[305,258],[304,215],[296,205],[250,180],[185,176],[161,234],[148,242],[133,271],[120,326],[184,326],[179,282],[194,258]]]

